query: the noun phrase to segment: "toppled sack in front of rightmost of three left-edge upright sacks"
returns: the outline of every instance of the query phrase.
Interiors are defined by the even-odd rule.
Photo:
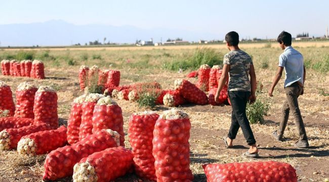
[[[65,146],[66,143],[66,127],[61,126],[54,130],[38,131],[23,136],[17,144],[17,152],[21,156],[47,154]]]

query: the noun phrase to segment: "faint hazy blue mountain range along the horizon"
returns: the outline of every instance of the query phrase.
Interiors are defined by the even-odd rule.
[[[75,25],[63,20],[51,20],[42,23],[0,25],[0,46],[51,46],[85,44],[98,40],[115,43],[135,43],[138,40],[154,42],[166,41],[168,38],[183,38],[188,41],[199,39],[221,39],[219,34],[195,32],[170,28],[144,29],[135,26],[112,26],[100,24]]]

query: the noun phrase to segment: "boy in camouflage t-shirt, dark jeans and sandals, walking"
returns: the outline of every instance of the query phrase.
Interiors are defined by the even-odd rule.
[[[215,101],[218,102],[220,92],[229,77],[228,96],[232,105],[231,127],[228,135],[223,137],[223,141],[227,148],[232,147],[237,131],[241,127],[244,138],[250,146],[250,149],[242,156],[258,157],[256,140],[245,113],[246,104],[256,101],[256,74],[253,61],[248,54],[239,49],[239,35],[236,32],[228,32],[225,40],[230,52],[224,56],[223,72],[215,96]]]

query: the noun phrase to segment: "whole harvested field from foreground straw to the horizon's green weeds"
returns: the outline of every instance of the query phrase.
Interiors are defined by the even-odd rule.
[[[245,161],[281,161],[290,163],[297,170],[300,181],[323,181],[329,178],[329,47],[328,42],[322,46],[300,45],[296,48],[305,59],[307,75],[305,81],[305,94],[300,97],[299,104],[306,132],[309,138],[309,149],[296,149],[294,141],[298,140],[294,118],[289,119],[285,131],[287,142],[273,141],[271,133],[278,127],[281,119],[281,105],[285,100],[283,78],[280,80],[273,93],[274,97],[267,97],[267,89],[277,68],[278,56],[282,52],[276,44],[262,46],[243,46],[241,49],[253,57],[257,79],[264,85],[263,91],[258,94],[258,99],[269,103],[270,110],[264,116],[264,124],[253,124],[257,144],[259,145],[259,159],[245,159],[241,154],[248,150],[242,132],[239,130],[233,149],[226,149],[222,137],[227,134],[230,126],[231,106],[199,106],[183,105],[183,109],[190,116],[190,168],[194,174],[194,181],[207,181],[202,164],[229,163]],[[293,42],[294,45],[294,42]],[[258,48],[257,48],[258,47]],[[26,51],[26,50],[25,50]],[[36,80],[26,77],[0,76],[16,90],[19,83],[28,81],[34,85],[49,85],[57,90],[58,116],[62,125],[67,124],[73,99],[82,95],[79,89],[78,69],[80,65],[98,65],[102,69],[118,69],[121,72],[120,85],[135,82],[157,81],[163,89],[174,88],[174,81],[186,78],[191,70],[178,73],[178,69],[168,65],[179,60],[184,60],[194,54],[194,48],[164,47],[152,49],[49,49],[27,50],[36,59],[45,63],[46,79]],[[218,47],[216,53],[222,57],[227,49]],[[17,50],[1,50],[0,57],[22,54]],[[218,62],[222,64],[222,60]],[[195,83],[195,78],[189,78]],[[15,100],[15,92],[14,100]],[[132,113],[145,111],[138,104],[125,100],[116,100],[122,108],[124,116],[124,130],[126,147],[130,148],[127,135],[128,120]],[[168,108],[156,106],[156,111],[161,113]],[[17,151],[0,152],[0,181],[42,181],[44,161],[46,155],[38,157],[21,158]],[[72,177],[58,181],[72,181]],[[142,181],[134,174],[127,174],[116,181]]]

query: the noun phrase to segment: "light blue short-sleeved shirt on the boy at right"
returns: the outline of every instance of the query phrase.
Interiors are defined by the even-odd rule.
[[[304,83],[304,58],[303,55],[289,46],[279,57],[279,66],[284,68],[285,80],[284,87],[290,86],[296,81]]]

